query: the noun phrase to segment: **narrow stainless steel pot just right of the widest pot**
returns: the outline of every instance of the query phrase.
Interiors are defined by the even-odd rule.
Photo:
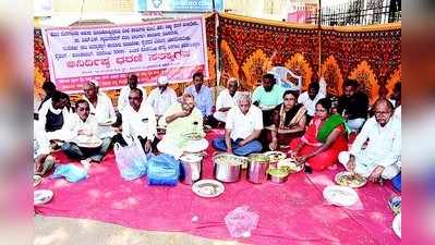
[[[266,182],[269,158],[262,154],[252,154],[249,156],[249,160],[247,180],[254,184]]]

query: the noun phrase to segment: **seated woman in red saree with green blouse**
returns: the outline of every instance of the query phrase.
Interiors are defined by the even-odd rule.
[[[346,120],[330,112],[330,100],[321,99],[305,134],[290,144],[290,157],[313,170],[321,171],[335,164],[339,152],[348,149]]]

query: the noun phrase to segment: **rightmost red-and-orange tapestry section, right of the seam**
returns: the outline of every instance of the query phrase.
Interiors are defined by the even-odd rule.
[[[324,28],[322,75],[331,94],[341,94],[348,77],[360,83],[372,102],[389,95],[401,79],[401,25]]]

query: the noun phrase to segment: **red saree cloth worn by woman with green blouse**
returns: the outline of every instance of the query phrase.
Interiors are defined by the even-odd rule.
[[[293,139],[290,143],[290,149],[295,149],[298,145],[303,140],[305,145],[298,152],[299,156],[304,156],[314,152],[322,146],[322,143],[317,139],[317,132],[322,126],[322,121],[318,118],[313,118],[311,120],[309,127],[302,138]],[[316,156],[309,158],[307,163],[313,168],[313,170],[322,171],[326,168],[335,164],[338,161],[338,155],[348,150],[348,139],[346,138],[346,131],[342,125],[338,127],[340,130],[340,135],[338,138],[329,146],[327,150],[324,150]]]

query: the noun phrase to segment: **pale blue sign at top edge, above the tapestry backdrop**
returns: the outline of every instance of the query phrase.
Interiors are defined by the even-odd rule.
[[[136,0],[137,11],[212,12],[213,0]],[[215,0],[215,9],[223,11],[223,0]]]

